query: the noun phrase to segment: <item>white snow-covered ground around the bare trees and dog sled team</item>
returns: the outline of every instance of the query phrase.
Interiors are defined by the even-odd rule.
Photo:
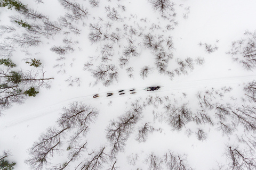
[[[57,0],[43,0],[44,3],[39,4],[28,0],[22,0],[21,2],[28,4],[30,8],[49,15],[51,21],[57,21],[67,11]],[[84,24],[82,21],[74,23],[81,30],[78,35],[75,33],[65,35],[63,33],[65,31],[62,31],[49,39],[42,37],[43,44],[27,49],[31,53],[29,57],[41,60],[44,65],[44,71],[46,71],[45,77],[54,78],[51,81],[51,88],[40,89],[35,98],[29,97],[24,104],[13,105],[13,107],[4,111],[4,115],[0,117],[0,151],[11,150],[12,156],[10,160],[17,162],[15,169],[29,169],[29,165],[24,162],[29,157],[28,149],[38,140],[41,133],[46,132],[49,126],[57,125],[55,122],[62,113],[62,107],[69,107],[71,102],[82,101],[86,105],[99,110],[98,118],[94,123],[90,124],[90,132],[85,138],[87,140],[87,150],[83,153],[83,156],[74,161],[74,164],[70,163],[67,166],[69,169],[75,169],[93,151],[102,146],[109,146],[109,142],[106,139],[106,128],[111,120],[117,120],[118,116],[129,111],[131,103],[136,100],[142,105],[149,96],[161,97],[163,100],[165,99],[164,103],[158,106],[147,106],[143,109],[142,118],[134,125],[132,130],[134,133],[131,133],[127,139],[124,151],[118,152],[115,156],[116,159],[112,160],[111,163],[105,163],[102,169],[111,169],[111,165],[115,161],[115,166],[119,167],[119,169],[150,169],[150,164],[145,159],[152,153],[160,159],[168,150],[171,150],[176,155],[186,154],[188,167],[193,169],[218,169],[218,163],[226,164],[226,156],[224,155],[225,149],[227,149],[226,145],[240,145],[235,134],[242,135],[243,130],[238,129],[235,134],[228,137],[217,130],[217,126],[215,126],[217,122],[214,122],[214,126],[198,126],[191,121],[180,131],[177,131],[172,130],[165,120],[155,120],[152,113],[164,113],[164,107],[167,103],[177,107],[188,103],[187,106],[191,108],[193,113],[196,113],[198,112],[197,92],[203,92],[206,89],[211,91],[211,88],[214,88],[214,90],[222,87],[233,88],[224,98],[216,97],[214,102],[241,104],[241,98],[244,95],[244,84],[255,80],[256,74],[254,71],[245,70],[240,64],[234,62],[227,52],[231,49],[233,41],[243,38],[246,30],[251,32],[255,30],[256,23],[253,17],[256,15],[254,9],[256,2],[249,0],[225,2],[212,0],[173,1],[175,4],[173,8],[177,13],[174,20],[178,21],[177,25],[173,25],[173,30],[165,29],[165,25],[172,24],[173,21],[161,18],[159,12],[154,11],[150,3],[145,0],[100,1],[99,7],[95,8],[92,8],[88,1],[81,0],[76,2],[87,7],[89,13],[82,20]],[[126,10],[121,12],[121,8],[117,7],[118,4],[124,5]],[[115,7],[122,19],[108,19],[105,6],[110,6],[110,9]],[[10,24],[7,16],[15,14],[19,13],[14,10],[7,10],[6,7],[0,8],[0,24]],[[93,69],[102,63],[100,57],[98,60],[95,58],[101,55],[101,48],[105,43],[103,40],[94,44],[89,41],[89,25],[90,23],[104,24],[107,21],[113,23],[111,30],[109,30],[110,32],[115,30],[115,27],[121,29],[119,32],[122,38],[117,43],[113,43],[113,51],[110,52],[113,57],[110,58],[111,61],[106,62],[115,64],[118,67],[118,81],[114,81],[110,86],[106,87],[101,82],[94,85],[95,79],[92,77],[90,69],[86,71],[83,69],[87,61],[92,62]],[[161,28],[150,30],[149,28],[153,23]],[[173,54],[173,59],[168,64],[169,70],[174,70],[178,67],[178,58],[185,60],[190,57],[195,61],[197,57],[202,57],[204,58],[204,64],[194,64],[194,69],[188,70],[187,74],[175,75],[170,79],[169,75],[158,72],[154,54],[150,49],[143,46],[143,36],[134,36],[134,44],[139,54],[131,57],[129,64],[122,69],[119,66],[118,58],[122,55],[124,47],[127,46],[125,37],[127,31],[124,31],[124,24],[133,25],[143,35],[151,31],[152,35],[163,34],[164,38],[172,37],[174,48],[170,52]],[[138,25],[142,28],[141,30],[137,27]],[[19,29],[26,31],[21,27]],[[64,29],[67,28],[63,27]],[[102,31],[105,31],[105,28]],[[74,48],[74,52],[65,55],[65,59],[57,61],[60,56],[53,53],[50,48],[54,45],[64,45],[62,39],[65,37],[72,39],[71,46]],[[4,39],[5,35],[2,35],[1,41]],[[78,43],[75,43],[75,41],[78,41]],[[203,45],[200,46],[200,43]],[[215,45],[218,50],[207,53],[204,44]],[[20,55],[17,56],[18,54]],[[15,52],[12,60],[22,63],[22,58],[25,57],[28,57],[25,53]],[[56,66],[58,64],[59,66]],[[61,64],[63,65],[60,66]],[[22,66],[22,64],[20,65]],[[154,69],[151,70],[147,78],[142,79],[140,69],[145,65],[154,67]],[[133,67],[133,78],[129,78],[125,70],[129,67]],[[80,82],[72,82],[76,78],[79,78]],[[68,86],[69,83],[73,83],[73,86]],[[161,86],[161,89],[158,91],[144,90],[146,87],[151,86]],[[129,94],[127,91],[130,89],[135,89],[137,93]],[[125,90],[126,94],[118,95],[119,90]],[[106,97],[108,92],[113,92],[114,95]],[[93,98],[92,96],[95,94],[99,94],[100,97]],[[169,99],[167,100],[165,97]],[[231,100],[230,97],[234,100]],[[147,122],[150,122],[150,125],[158,130],[149,133],[146,142],[136,141],[138,127]],[[207,133],[205,140],[197,139],[195,132],[198,127]],[[188,129],[194,131],[189,137],[187,135]],[[65,140],[67,138],[63,139],[63,141]],[[63,147],[61,147],[63,152],[54,154],[53,158],[50,157],[49,160],[53,165],[67,161],[66,145],[67,143],[64,142]],[[137,162],[129,164],[128,160],[130,159],[128,157],[130,156],[131,158],[131,155],[136,154],[139,156]],[[159,161],[159,164],[161,163],[160,160],[157,161]],[[164,165],[164,159],[162,164]],[[43,169],[46,169],[46,166]],[[156,167],[156,169],[161,168]],[[163,169],[166,169],[166,167],[163,166]]]

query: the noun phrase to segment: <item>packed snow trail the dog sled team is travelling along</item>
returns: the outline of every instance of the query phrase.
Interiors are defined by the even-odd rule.
[[[176,82],[172,82],[171,84],[159,84],[159,86],[161,86],[161,89],[157,90],[157,91],[146,91],[145,88],[149,87],[149,86],[145,86],[145,87],[139,87],[139,88],[135,88],[134,91],[130,91],[131,89],[123,89],[124,92],[126,93],[125,95],[119,95],[118,91],[122,90],[119,89],[117,91],[108,91],[108,92],[101,92],[98,93],[100,97],[98,98],[93,98],[93,95],[87,95],[87,96],[78,96],[78,97],[74,97],[74,98],[70,98],[70,99],[66,99],[66,100],[62,100],[58,103],[46,106],[44,108],[40,108],[37,109],[36,111],[33,112],[28,112],[27,114],[25,114],[23,111],[23,113],[21,113],[20,117],[14,118],[11,121],[5,121],[4,118],[2,117],[0,119],[0,130],[9,128],[11,126],[14,125],[18,125],[21,123],[25,123],[28,121],[32,121],[35,120],[36,118],[45,116],[45,115],[49,115],[52,113],[60,113],[61,108],[63,106],[66,106],[68,103],[70,103],[71,101],[75,101],[78,99],[83,99],[83,100],[95,100],[100,102],[101,100],[106,100],[106,99],[111,99],[111,98],[119,98],[119,97],[123,97],[123,96],[140,96],[140,95],[145,95],[145,94],[151,94],[151,93],[158,93],[158,94],[164,94],[167,95],[168,92],[171,91],[178,91],[178,90],[185,90],[185,89],[195,89],[198,88],[202,89],[204,87],[214,87],[214,86],[231,86],[233,84],[241,84],[241,83],[246,83],[252,80],[256,80],[256,75],[245,75],[245,76],[237,76],[237,77],[227,77],[227,78],[215,78],[215,79],[203,79],[203,80],[194,80],[194,81],[176,81]],[[107,93],[111,93],[113,92],[113,96],[110,97],[106,97]],[[130,94],[130,92],[136,92],[136,94]]]

